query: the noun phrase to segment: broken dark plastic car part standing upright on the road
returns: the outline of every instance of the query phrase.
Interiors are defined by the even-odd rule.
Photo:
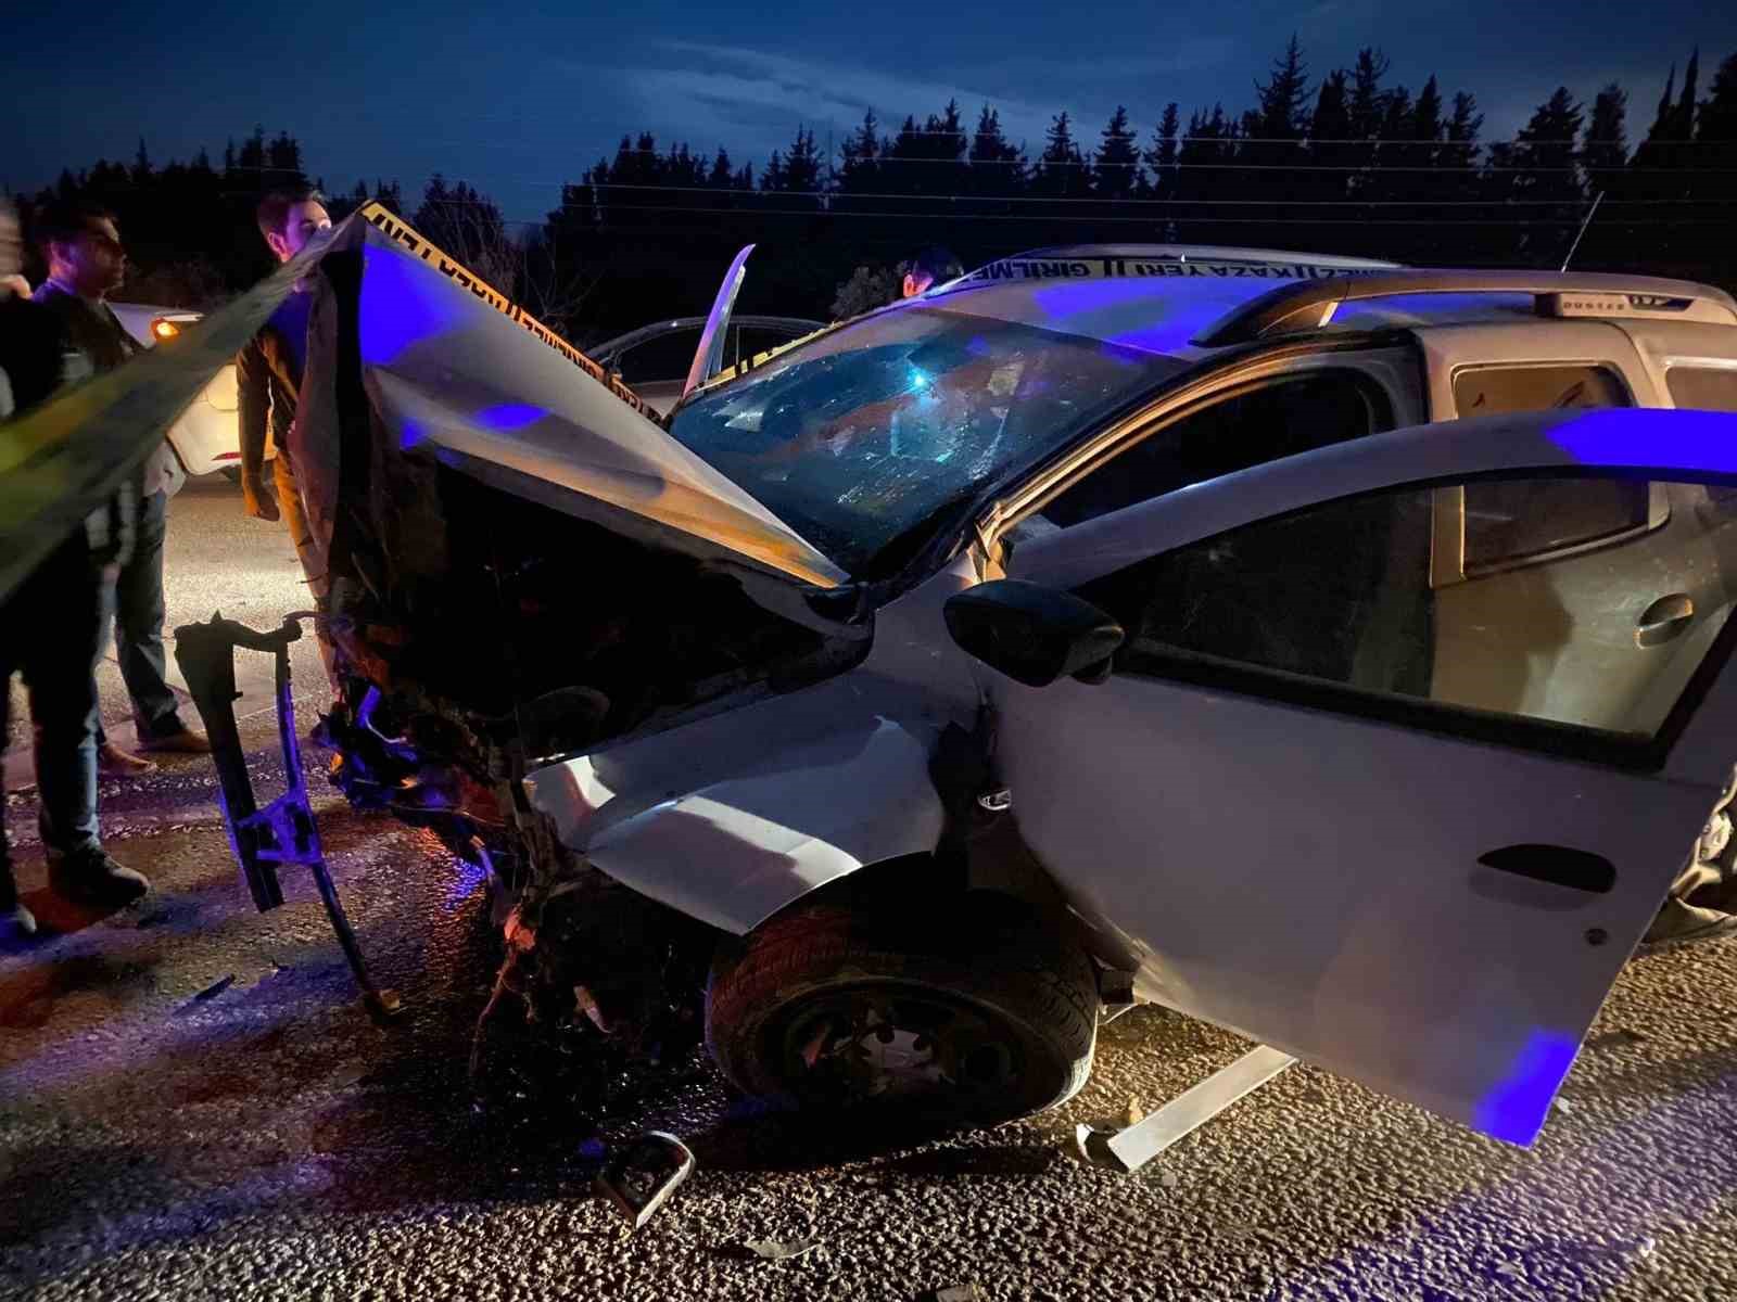
[[[175,663],[188,681],[188,691],[205,720],[212,743],[212,760],[217,766],[217,786],[224,825],[229,830],[229,847],[241,865],[254,906],[264,913],[283,903],[283,885],[278,882],[278,865],[304,865],[320,889],[332,930],[349,970],[361,986],[368,1012],[375,1017],[396,1017],[401,1010],[398,995],[380,990],[368,976],[356,932],[349,925],[344,904],[337,898],[332,873],[327,871],[320,849],[320,828],[313,806],[307,802],[307,785],[302,781],[301,741],[295,736],[295,698],[290,691],[290,642],[302,635],[302,620],[318,618],[313,611],[297,611],[283,618],[273,632],[255,632],[247,625],[214,615],[208,623],[188,623],[175,628]],[[254,795],[254,779],[247,771],[247,753],[234,722],[234,651],[264,651],[276,661],[278,743],[283,752],[283,795],[264,809]]]

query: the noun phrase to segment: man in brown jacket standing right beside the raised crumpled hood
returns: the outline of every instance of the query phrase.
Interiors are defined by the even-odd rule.
[[[288,262],[307,241],[332,229],[320,191],[273,191],[255,210],[259,233],[278,262]],[[290,531],[290,542],[301,557],[302,573],[313,592],[314,604],[325,606],[325,562],[313,543],[307,512],[302,507],[301,488],[295,484],[295,462],[290,458],[290,425],[295,422],[295,403],[302,391],[302,370],[307,365],[307,314],[313,293],[297,285],[290,295],[261,326],[234,359],[234,377],[241,406],[241,498],[254,519],[273,521],[281,516]],[[278,448],[271,462],[271,479],[276,500],[266,488],[266,431]],[[332,644],[323,623],[314,625],[320,639],[320,656],[327,674],[332,674]]]

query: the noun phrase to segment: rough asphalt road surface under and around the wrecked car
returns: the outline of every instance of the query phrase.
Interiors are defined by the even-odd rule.
[[[281,531],[228,491],[179,498],[170,540],[170,623],[214,604],[267,623],[299,601]],[[316,705],[311,649],[299,670]],[[243,724],[262,774],[269,727]],[[320,802],[363,946],[408,1003],[389,1028],[304,877],[252,911],[208,764],[104,788],[111,851],[156,884],[104,918],[42,889],[14,797],[26,896],[61,934],[0,955],[0,1295],[1737,1297],[1734,941],[1629,965],[1530,1151],[1294,1068],[1139,1175],[1087,1168],[1075,1123],[1245,1049],[1152,1009],[1105,1028],[1065,1109],[929,1142],[766,1113],[695,1059],[604,1123],[604,1147],[651,1127],[698,1154],[629,1238],[591,1193],[577,1118],[472,1106],[495,962],[479,882],[419,833]],[[761,1262],[743,1253],[761,1238],[820,1245]]]

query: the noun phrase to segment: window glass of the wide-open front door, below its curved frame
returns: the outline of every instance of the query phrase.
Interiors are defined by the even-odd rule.
[[[1515,477],[1503,491],[1548,510],[1575,493],[1598,500],[1614,483]],[[1701,486],[1668,488],[1707,500]],[[1226,686],[1304,698],[1313,684],[1476,720],[1652,738],[1737,597],[1732,514],[1681,510],[1673,529],[1636,545],[1431,590],[1436,496],[1346,498],[1079,592],[1127,630],[1117,672],[1218,674]]]

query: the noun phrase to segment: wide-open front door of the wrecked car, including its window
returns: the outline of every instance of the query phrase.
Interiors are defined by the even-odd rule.
[[[1490,601],[1431,585],[1464,484],[1549,543],[1459,575]],[[1146,996],[1530,1142],[1737,759],[1732,484],[1734,417],[1529,413],[1021,542],[1126,639],[1101,682],[983,672],[1020,828]],[[1669,523],[1593,526],[1629,498]],[[1621,672],[1527,682],[1581,663]]]

